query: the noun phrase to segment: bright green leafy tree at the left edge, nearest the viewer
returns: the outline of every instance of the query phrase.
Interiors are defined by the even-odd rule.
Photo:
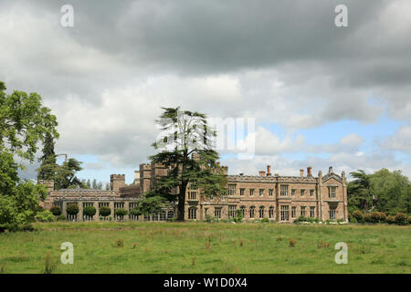
[[[33,162],[39,144],[58,138],[58,122],[37,93],[5,89],[0,81],[0,228],[12,228],[32,220],[47,195],[44,186],[19,179],[15,155]]]

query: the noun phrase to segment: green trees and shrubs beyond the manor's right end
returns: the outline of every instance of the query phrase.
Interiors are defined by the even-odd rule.
[[[401,171],[383,168],[367,174],[362,170],[350,173],[353,181],[347,185],[348,211],[363,214],[384,212],[411,214],[411,183]]]

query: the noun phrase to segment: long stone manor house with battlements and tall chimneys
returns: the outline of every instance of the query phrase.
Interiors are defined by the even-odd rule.
[[[223,166],[228,172],[227,166]],[[175,208],[164,209],[160,214],[133,216],[131,214],[116,218],[115,210],[123,208],[131,211],[144,193],[150,190],[153,178],[165,175],[167,169],[161,164],[140,164],[139,171],[134,172],[134,182],[125,183],[124,174],[111,174],[111,190],[65,189],[54,191],[54,183],[40,181],[48,188],[44,207],[53,205],[61,207],[67,214],[68,204],[78,204],[79,214],[68,215],[69,220],[99,220],[99,208],[109,206],[114,220],[165,221],[175,217]],[[83,208],[93,205],[97,213],[90,218],[83,215]],[[220,219],[228,219],[237,215],[240,210],[244,220],[269,218],[269,220],[290,223],[300,215],[347,221],[347,183],[345,173],[341,176],[332,171],[318,176],[312,175],[311,167],[307,173],[300,170],[299,176],[281,176],[272,174],[270,166],[258,175],[227,175],[227,195],[221,198],[203,198],[198,189],[188,187],[185,195],[185,219],[205,220],[207,214]]]

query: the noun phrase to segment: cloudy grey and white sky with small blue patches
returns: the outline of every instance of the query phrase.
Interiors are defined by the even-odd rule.
[[[410,16],[409,0],[0,0],[0,80],[43,97],[81,178],[131,183],[161,106],[255,118],[254,159],[223,152],[232,174],[411,177]]]

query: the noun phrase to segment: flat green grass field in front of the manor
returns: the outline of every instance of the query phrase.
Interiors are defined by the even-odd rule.
[[[35,227],[35,232],[0,235],[0,272],[42,273],[48,253],[56,263],[54,273],[411,273],[411,226],[133,222]],[[59,261],[63,242],[74,245],[73,265]],[[348,245],[347,265],[334,261],[337,242]]]

